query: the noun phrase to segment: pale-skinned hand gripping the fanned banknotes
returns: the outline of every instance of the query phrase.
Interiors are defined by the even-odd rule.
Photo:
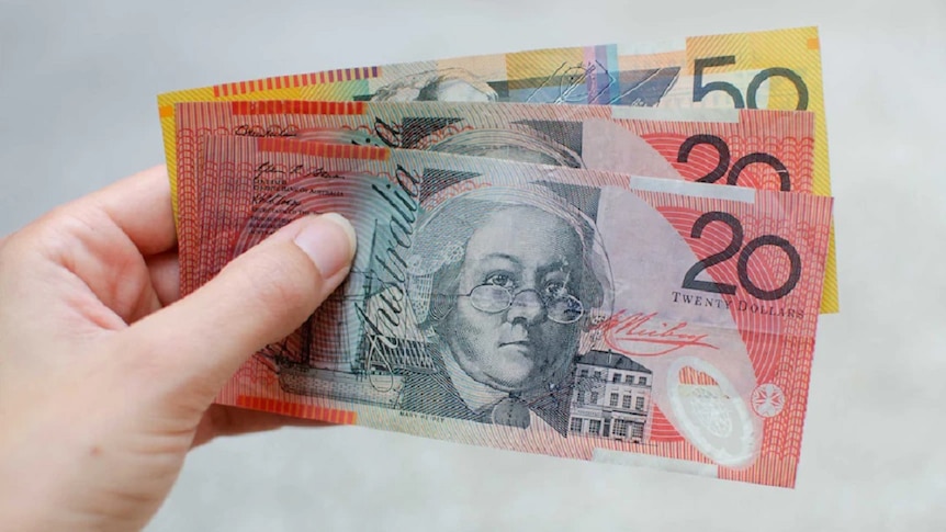
[[[305,423],[212,406],[348,274],[351,226],[284,227],[185,298],[154,168],[0,239],[0,516],[10,530],[139,530],[188,451]]]

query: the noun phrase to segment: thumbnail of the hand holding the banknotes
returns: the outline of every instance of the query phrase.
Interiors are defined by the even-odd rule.
[[[318,216],[306,225],[293,241],[312,259],[323,279],[328,279],[347,267],[354,257],[357,245],[354,228],[344,216],[336,213]]]

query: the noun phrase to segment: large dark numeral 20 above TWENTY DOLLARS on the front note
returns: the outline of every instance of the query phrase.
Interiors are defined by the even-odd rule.
[[[684,288],[692,288],[717,294],[735,294],[735,285],[716,283],[712,281],[700,281],[697,279],[697,275],[713,264],[725,262],[736,253],[739,253],[739,261],[736,262],[735,269],[736,274],[739,275],[739,283],[746,292],[756,298],[763,301],[780,299],[795,288],[799,279],[801,279],[801,257],[798,254],[798,250],[795,249],[795,246],[792,246],[791,242],[775,235],[763,235],[750,240],[750,242],[743,248],[742,240],[745,234],[742,228],[742,223],[740,223],[735,216],[719,211],[706,213],[697,218],[694,223],[690,236],[692,238],[700,238],[706,226],[713,222],[722,222],[730,226],[730,229],[732,229],[732,240],[730,240],[729,246],[727,246],[722,251],[697,261],[691,265],[684,275]],[[775,246],[785,251],[785,254],[788,256],[788,260],[791,263],[788,280],[775,290],[761,288],[748,276],[748,259],[752,258],[752,254],[763,246]],[[740,252],[740,249],[742,249],[742,252]]]

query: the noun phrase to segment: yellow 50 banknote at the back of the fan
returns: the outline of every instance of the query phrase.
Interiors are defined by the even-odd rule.
[[[821,52],[815,27],[695,36],[349,68],[224,83],[158,97],[174,213],[173,104],[236,100],[484,101],[669,107],[809,110],[815,114],[813,191],[831,195]],[[823,313],[838,309],[833,228]]]

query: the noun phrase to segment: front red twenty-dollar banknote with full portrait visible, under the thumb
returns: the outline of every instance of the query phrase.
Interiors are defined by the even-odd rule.
[[[219,403],[793,486],[830,197],[288,138],[205,154],[200,282],[308,213],[359,238]]]

